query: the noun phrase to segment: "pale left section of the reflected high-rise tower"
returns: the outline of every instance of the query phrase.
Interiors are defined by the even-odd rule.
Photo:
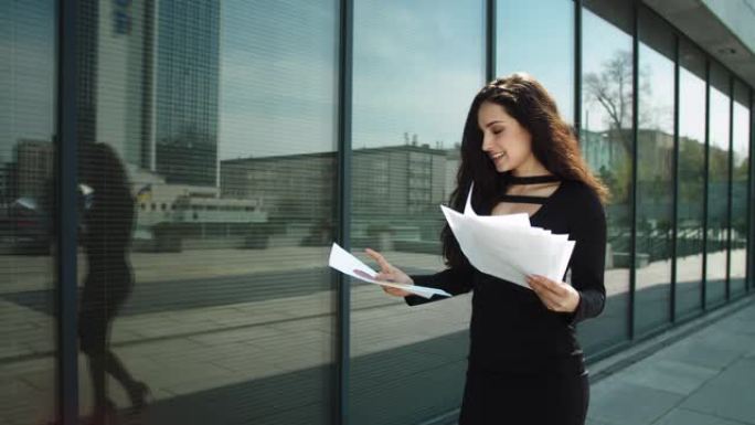
[[[82,25],[78,93],[83,142],[113,146],[128,164],[149,168],[153,3],[86,0]],[[107,78],[103,76],[107,75]]]

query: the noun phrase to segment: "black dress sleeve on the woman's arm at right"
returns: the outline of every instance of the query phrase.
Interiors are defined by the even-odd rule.
[[[598,316],[606,302],[604,284],[606,263],[606,215],[597,194],[586,191],[572,215],[570,238],[576,241],[571,261],[572,286],[579,293],[579,304],[566,315],[570,325]]]

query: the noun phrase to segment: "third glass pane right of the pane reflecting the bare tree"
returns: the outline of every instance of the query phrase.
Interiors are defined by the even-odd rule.
[[[705,306],[715,307],[726,297],[726,245],[729,233],[729,75],[711,66],[708,147],[708,242]]]

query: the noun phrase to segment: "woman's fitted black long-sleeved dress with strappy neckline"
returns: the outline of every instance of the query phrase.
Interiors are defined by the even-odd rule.
[[[539,178],[533,179],[547,181]],[[563,180],[547,198],[503,195],[501,200],[542,203],[530,217],[531,225],[568,233],[576,241],[562,280],[578,290],[579,304],[574,312],[551,311],[531,289],[474,266],[411,276],[416,285],[453,295],[474,290],[459,425],[584,424],[589,386],[575,325],[599,315],[605,305],[603,205],[592,188],[572,180]],[[440,299],[445,298],[405,297],[411,306]]]

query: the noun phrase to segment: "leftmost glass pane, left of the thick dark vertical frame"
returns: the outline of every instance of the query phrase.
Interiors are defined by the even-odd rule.
[[[56,2],[0,12],[0,423],[56,416]]]

